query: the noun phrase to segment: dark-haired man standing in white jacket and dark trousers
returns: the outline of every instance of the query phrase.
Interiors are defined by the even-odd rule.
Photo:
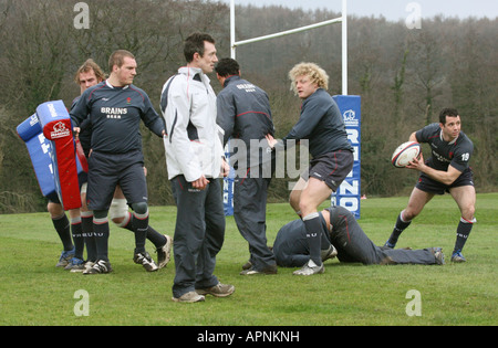
[[[166,166],[177,205],[173,300],[193,303],[207,294],[229,296],[235,287],[219,283],[212,274],[225,239],[218,178],[229,171],[216,124],[216,95],[206,75],[218,62],[215,40],[194,33],[184,53],[187,66],[165,83],[160,109],[167,131]]]

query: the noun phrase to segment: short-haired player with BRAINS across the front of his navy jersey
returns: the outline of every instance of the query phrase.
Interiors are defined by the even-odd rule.
[[[134,211],[134,260],[145,270],[156,271],[157,265],[145,250],[148,203],[139,123],[142,119],[159,137],[165,135],[165,125],[147,94],[133,85],[137,67],[135,56],[124,50],[115,51],[108,67],[110,77],[87,88],[70,113],[76,135],[84,119],[90,118],[92,123],[87,205],[94,213],[97,261],[84,274],[112,271],[107,214],[117,184]]]

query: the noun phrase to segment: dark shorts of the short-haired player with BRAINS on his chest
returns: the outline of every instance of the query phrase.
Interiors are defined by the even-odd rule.
[[[93,151],[89,158],[86,201],[91,210],[108,210],[120,184],[128,204],[147,202],[147,182],[141,151],[105,154]]]

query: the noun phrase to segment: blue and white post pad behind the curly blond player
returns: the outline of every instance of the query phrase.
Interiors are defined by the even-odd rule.
[[[353,170],[339,187],[338,192],[332,193],[332,204],[344,207],[360,219],[361,201],[361,97],[357,95],[335,95],[344,119],[347,139],[354,148]]]

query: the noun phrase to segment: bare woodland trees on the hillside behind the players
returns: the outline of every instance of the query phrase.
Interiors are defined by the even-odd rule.
[[[194,31],[217,40],[218,56],[230,55],[229,8],[203,0],[0,0],[0,213],[43,211],[25,146],[15,127],[46,101],[66,106],[80,94],[74,72],[89,57],[107,71],[117,49],[135,54],[135,84],[159,112],[164,82],[181,65],[183,41]],[[87,29],[77,25],[86,20]],[[328,10],[284,7],[236,9],[237,40],[250,39],[340,17]],[[83,25],[84,27],[84,25]],[[408,29],[403,21],[349,18],[349,93],[362,97],[362,193],[409,192],[416,172],[391,166],[394,148],[409,134],[437,122],[439,109],[456,107],[475,145],[471,166],[478,191],[497,186],[497,19],[435,17]],[[290,91],[290,68],[315,62],[341,94],[341,25],[243,45],[237,50],[242,76],[270,96],[277,136],[299,117],[301,102]],[[220,91],[215,76],[211,84]],[[163,143],[144,128],[143,147],[152,204],[172,204]],[[425,149],[428,157],[428,149]],[[270,201],[287,200],[289,179],[276,178]]]

